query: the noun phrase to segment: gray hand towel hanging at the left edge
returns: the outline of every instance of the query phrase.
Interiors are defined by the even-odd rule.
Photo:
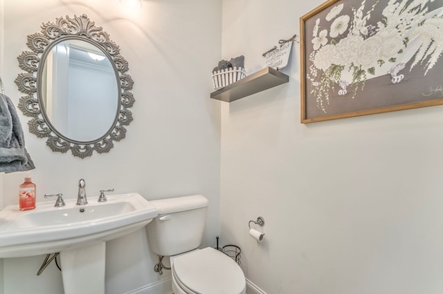
[[[25,139],[17,110],[11,99],[0,93],[0,173],[34,169],[25,148]]]

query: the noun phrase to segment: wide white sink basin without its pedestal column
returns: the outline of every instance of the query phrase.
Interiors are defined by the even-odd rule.
[[[138,193],[107,196],[107,202],[89,197],[89,204],[76,199],[37,202],[37,208],[21,211],[7,206],[0,211],[0,258],[26,257],[80,248],[132,233],[158,214]],[[81,211],[83,210],[83,211]]]

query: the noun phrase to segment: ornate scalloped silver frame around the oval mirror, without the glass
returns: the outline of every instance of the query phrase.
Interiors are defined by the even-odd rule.
[[[101,27],[96,27],[95,23],[87,17],[86,14],[73,18],[59,17],[55,23],[42,23],[42,30],[33,35],[28,35],[26,45],[32,51],[24,51],[17,57],[19,67],[26,71],[21,72],[15,79],[20,92],[27,96],[21,97],[19,100],[19,109],[28,117],[32,117],[28,121],[30,133],[35,134],[39,138],[48,137],[46,145],[53,152],[66,153],[71,150],[76,157],[84,158],[92,155],[93,150],[98,153],[108,153],[114,147],[113,141],[120,141],[125,138],[126,128],[132,118],[132,112],[127,108],[133,106],[135,99],[132,95],[132,87],[134,81],[126,73],[129,70],[128,63],[120,55],[118,45],[109,39],[107,32]],[[41,95],[41,76],[44,64],[39,66],[40,61],[45,61],[48,51],[53,48],[54,44],[64,40],[80,39],[97,46],[102,50],[114,68],[116,81],[118,86],[118,109],[114,123],[110,126],[107,133],[100,138],[91,141],[76,141],[69,139],[51,124],[46,113],[44,113],[44,103]],[[120,81],[120,83],[118,83]]]

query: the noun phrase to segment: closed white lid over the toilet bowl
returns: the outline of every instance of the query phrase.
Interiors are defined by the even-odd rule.
[[[228,255],[204,248],[174,259],[180,282],[199,294],[240,294],[246,287],[242,269]]]

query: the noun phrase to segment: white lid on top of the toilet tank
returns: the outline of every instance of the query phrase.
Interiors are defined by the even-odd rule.
[[[150,201],[150,204],[159,210],[159,215],[165,213],[179,213],[180,211],[204,208],[209,205],[203,195],[190,195]]]

